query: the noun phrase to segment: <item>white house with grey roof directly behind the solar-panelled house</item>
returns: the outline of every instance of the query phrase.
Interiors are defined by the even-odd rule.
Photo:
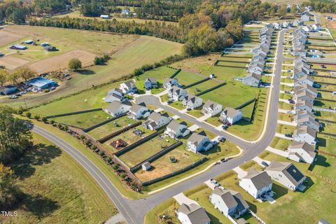
[[[293,141],[287,148],[288,159],[296,162],[313,163],[316,158],[315,148],[307,142]]]

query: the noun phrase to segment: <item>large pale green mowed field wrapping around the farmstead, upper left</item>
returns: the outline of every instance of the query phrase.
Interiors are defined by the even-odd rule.
[[[1,103],[10,104],[14,107],[25,106],[25,104],[27,104],[28,107],[43,104],[52,99],[84,90],[92,85],[100,85],[127,76],[132,73],[134,69],[144,64],[153,64],[171,55],[179,54],[182,47],[181,43],[166,41],[151,36],[115,35],[73,29],[55,29],[55,31],[52,32],[47,28],[48,27],[27,27],[27,29],[36,29],[36,36],[44,34],[43,32],[47,30],[50,32],[48,35],[52,36],[55,34],[55,39],[59,37],[59,39],[66,43],[69,41],[69,45],[72,47],[69,47],[68,50],[85,50],[97,54],[99,49],[101,49],[103,52],[109,50],[115,53],[111,55],[111,59],[106,65],[92,66],[83,73],[74,73],[72,79],[63,83],[62,87],[59,87],[56,91],[52,91],[48,94],[33,94],[29,97],[20,97],[20,99],[15,99],[15,101],[2,99]],[[17,29],[15,29],[15,31],[19,32]],[[57,34],[57,31],[59,31],[60,34]],[[62,34],[64,35],[62,36]],[[85,35],[87,36],[86,38]],[[82,36],[83,39],[81,38]],[[119,39],[117,38],[116,41],[114,41],[113,38],[116,38],[116,36],[118,36]],[[103,37],[105,41],[102,41]],[[127,42],[124,41],[125,38],[127,38]],[[77,39],[80,39],[78,43],[76,41]],[[45,38],[45,41],[48,41],[48,39]],[[52,41],[48,42],[52,44]],[[100,48],[96,49],[95,45],[99,45]],[[114,48],[112,48],[112,46],[114,46]],[[95,52],[94,49],[96,49]]]

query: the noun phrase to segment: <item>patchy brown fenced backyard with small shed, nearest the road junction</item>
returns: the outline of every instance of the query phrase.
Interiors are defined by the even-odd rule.
[[[170,162],[169,158],[171,157],[176,158],[177,162]],[[181,145],[158,158],[158,160],[151,162],[153,167],[151,170],[144,171],[140,169],[138,172],[135,172],[134,175],[137,176],[140,181],[150,181],[160,176],[165,176],[167,174],[171,174],[172,172],[179,171],[201,158],[202,157],[200,155],[187,151],[185,145]]]

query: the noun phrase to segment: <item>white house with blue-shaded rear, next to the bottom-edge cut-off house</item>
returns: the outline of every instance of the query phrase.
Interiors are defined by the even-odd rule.
[[[209,196],[209,200],[226,217],[241,216],[248,211],[248,204],[243,196],[234,190],[215,188]]]

